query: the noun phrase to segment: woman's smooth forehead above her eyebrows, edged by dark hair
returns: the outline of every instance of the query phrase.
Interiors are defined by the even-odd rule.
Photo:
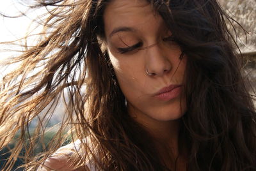
[[[103,16],[106,35],[116,27],[157,26],[161,20],[159,18],[146,0],[112,0],[106,6]]]

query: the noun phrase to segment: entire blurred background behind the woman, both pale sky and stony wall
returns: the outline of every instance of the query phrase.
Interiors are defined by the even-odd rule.
[[[20,0],[21,1],[21,0]],[[225,11],[235,19],[241,26],[246,29],[248,32],[247,37],[244,36],[244,31],[239,27],[239,24],[234,22],[234,26],[237,29],[237,44],[241,48],[241,52],[244,56],[244,60],[247,61],[244,70],[250,77],[253,87],[256,87],[256,1],[255,0],[219,0],[221,6],[225,9]],[[32,0],[23,0],[27,5],[32,3]],[[45,12],[45,9],[28,11],[28,7],[19,4],[19,0],[8,0],[1,1],[0,12],[3,15],[7,15],[10,17],[0,17],[0,41],[12,41],[18,40],[24,37],[26,34],[38,33],[40,31],[40,27],[36,27],[36,22],[31,24],[32,20],[36,20],[40,22],[37,16],[41,15]],[[21,13],[26,13],[26,16],[18,17]],[[230,30],[232,30],[230,24],[228,24]],[[28,29],[29,28],[29,29]],[[233,34],[235,34],[233,32]],[[20,43],[24,41],[20,40]],[[32,36],[29,38],[28,43],[36,42],[36,36]],[[15,65],[11,66],[3,66],[1,65],[1,61],[8,57],[17,56],[19,52],[12,51],[13,50],[22,50],[19,46],[6,46],[0,45],[0,80],[3,78],[3,75],[12,71],[15,68]],[[57,124],[61,121],[63,111],[63,102],[58,104],[56,111],[49,123],[49,127]],[[36,122],[36,121],[33,121]],[[35,126],[34,123],[31,123],[31,129]],[[17,135],[18,136],[18,135]],[[47,133],[45,141],[51,139],[52,133]],[[47,143],[47,142],[45,142]],[[13,147],[13,144],[10,144],[10,149]],[[4,160],[8,158],[10,150],[8,148],[0,151],[0,170],[3,166]],[[40,152],[41,149],[38,149]],[[22,163],[21,160],[18,160],[15,163],[15,167],[18,167]],[[14,169],[13,169],[14,170]],[[18,169],[22,170],[22,169]]]

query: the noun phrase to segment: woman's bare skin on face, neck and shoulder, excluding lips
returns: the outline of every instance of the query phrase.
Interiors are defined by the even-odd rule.
[[[120,27],[129,29],[116,32]],[[176,170],[186,170],[186,160],[178,151],[179,119],[186,112],[186,99],[180,94],[172,100],[154,96],[163,87],[183,84],[186,56],[179,59],[179,45],[166,40],[172,33],[147,1],[111,1],[104,11],[104,29],[109,58],[127,99],[129,115],[152,135],[166,167],[173,170],[179,156]],[[138,43],[140,47],[120,52],[119,48]],[[148,75],[146,70],[154,75]],[[65,156],[54,156],[44,166],[56,170],[72,168]]]

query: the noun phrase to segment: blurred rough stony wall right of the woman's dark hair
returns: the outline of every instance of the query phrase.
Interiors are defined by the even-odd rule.
[[[239,45],[245,61],[245,70],[250,77],[251,84],[256,87],[256,1],[255,0],[219,0],[227,14],[235,19],[248,32],[244,36],[244,31],[238,24],[237,44]],[[234,22],[235,23],[235,22]],[[232,28],[228,25],[230,30]],[[234,31],[232,31],[234,35]]]

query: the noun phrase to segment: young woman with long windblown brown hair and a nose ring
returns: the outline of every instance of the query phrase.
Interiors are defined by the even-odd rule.
[[[1,147],[39,120],[23,145],[28,170],[256,170],[255,108],[216,0],[37,6],[54,6],[45,38],[17,57],[0,95]],[[33,155],[64,91],[60,130]]]

